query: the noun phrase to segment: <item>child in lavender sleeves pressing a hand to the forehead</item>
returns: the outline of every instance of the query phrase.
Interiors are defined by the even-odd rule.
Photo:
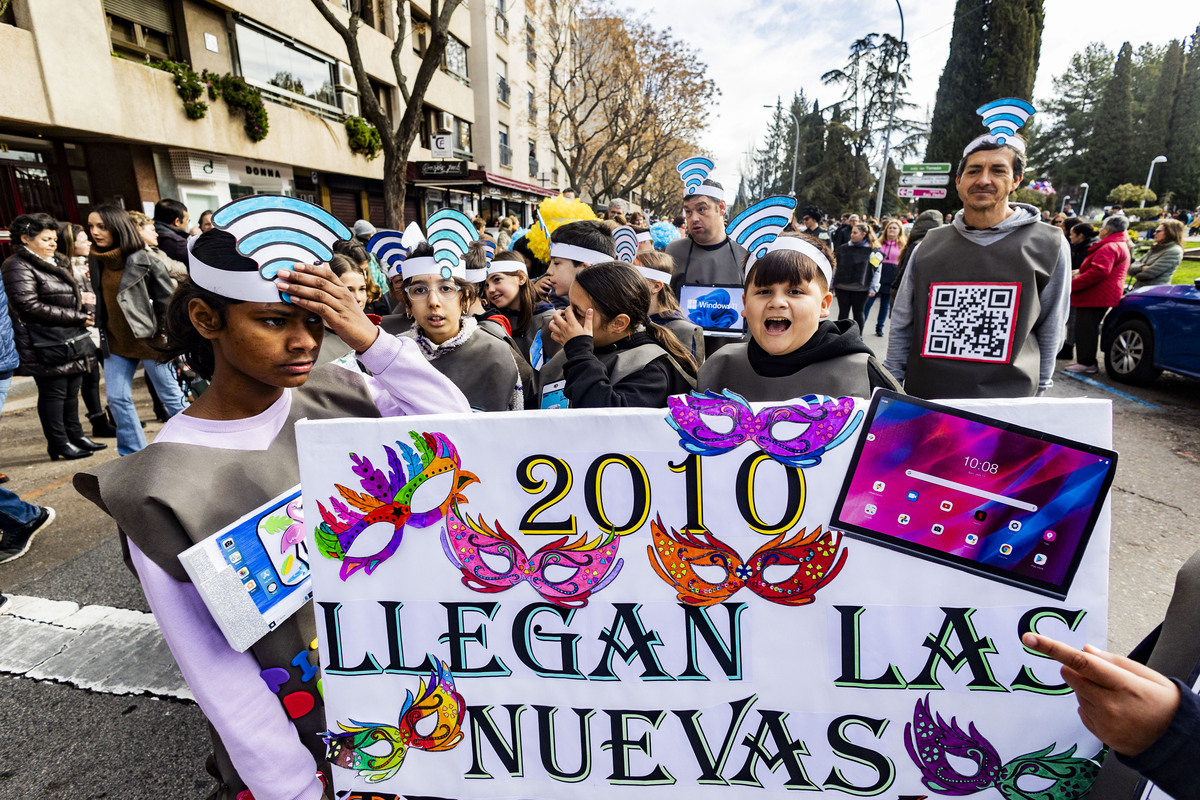
[[[245,200],[260,198],[235,203]],[[305,211],[307,204],[292,198],[264,201],[276,200],[292,205],[269,211],[306,216],[310,227],[326,225],[329,239],[349,236],[320,209]],[[269,231],[241,235],[248,233]],[[310,661],[311,603],[238,652],[179,554],[299,483],[300,419],[466,411],[468,404],[415,343],[380,335],[328,266],[287,260],[289,269],[271,281],[236,241],[217,227],[188,245],[191,281],[167,312],[166,353],[186,355],[211,385],[149,447],[80,473],[74,485],[116,521],[126,561],[209,720],[208,770],[220,782],[212,796],[317,800],[331,790]],[[373,377],[338,365],[314,368],[326,326]]]

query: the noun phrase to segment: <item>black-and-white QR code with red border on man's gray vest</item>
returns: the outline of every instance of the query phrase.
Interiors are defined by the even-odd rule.
[[[922,355],[1007,363],[1020,297],[1020,283],[931,284]]]

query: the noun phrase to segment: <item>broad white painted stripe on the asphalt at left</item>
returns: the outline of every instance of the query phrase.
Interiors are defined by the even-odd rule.
[[[107,694],[191,700],[154,614],[12,595],[0,616],[0,673]]]

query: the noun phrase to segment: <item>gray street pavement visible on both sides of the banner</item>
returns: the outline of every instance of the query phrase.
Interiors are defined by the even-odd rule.
[[[883,354],[884,338],[866,341]],[[138,384],[152,435],[158,425]],[[121,561],[113,524],[71,488],[78,464],[46,458],[29,389],[18,387],[0,419],[0,470],[8,488],[54,506],[58,519],[26,557],[0,566],[0,588],[17,596],[0,616],[0,800],[203,796],[203,715]],[[1051,395],[1112,401],[1121,461],[1110,646],[1127,651],[1162,618],[1175,572],[1198,546],[1200,384],[1164,375],[1142,390],[1060,371]],[[85,463],[114,458],[109,443]]]

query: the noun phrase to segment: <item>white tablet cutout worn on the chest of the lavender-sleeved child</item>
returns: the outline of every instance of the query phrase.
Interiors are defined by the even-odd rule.
[[[312,597],[300,487],[179,554],[229,646],[244,652]]]

